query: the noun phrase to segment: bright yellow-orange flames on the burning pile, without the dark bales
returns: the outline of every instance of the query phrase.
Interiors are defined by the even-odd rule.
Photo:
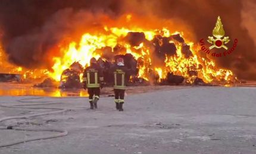
[[[117,45],[117,40],[122,36],[127,36],[127,33],[130,31],[144,32],[147,40],[152,40],[154,35],[161,33],[163,33],[166,37],[171,36],[170,31],[168,31],[166,28],[163,28],[163,30],[128,30],[124,27],[105,27],[105,30],[107,30],[110,34],[91,35],[86,33],[83,34],[78,47],[76,47],[75,42],[71,42],[68,49],[62,49],[64,56],[54,57],[55,65],[52,67],[54,69],[54,73],[50,73],[52,78],[59,80],[61,72],[68,68],[73,62],[80,62],[83,66],[89,65],[89,60],[91,57],[98,58],[101,56],[101,53],[97,53],[96,49],[101,49],[105,46],[114,48]],[[177,32],[175,32],[175,34],[177,34]],[[125,41],[119,41],[118,44],[124,46],[126,48],[126,53],[131,53],[136,59],[139,59],[139,57],[143,58],[143,65],[138,66],[138,77],[146,80],[148,80],[148,68],[156,70],[158,75],[160,75],[160,78],[166,78],[167,72],[174,72],[176,75],[184,76],[188,82],[193,82],[193,79],[195,79],[196,76],[204,79],[205,82],[212,82],[214,80],[227,81],[233,76],[231,70],[218,69],[213,60],[198,57],[197,51],[191,42],[187,42],[186,44],[191,46],[193,56],[186,58],[181,51],[182,43],[174,41],[174,44],[177,47],[177,55],[170,57],[166,56],[166,65],[162,68],[151,65],[151,61],[154,59],[154,57],[150,54],[151,51],[149,51],[149,47],[145,46],[143,43],[134,47],[131,47],[130,44],[126,43]],[[189,71],[196,71],[198,72],[198,75],[191,76],[188,73]]]

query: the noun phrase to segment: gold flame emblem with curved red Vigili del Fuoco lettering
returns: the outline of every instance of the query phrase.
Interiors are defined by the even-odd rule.
[[[208,36],[208,43],[211,44],[209,48],[205,47],[204,39],[200,40],[200,46],[202,52],[205,52],[207,54],[211,54],[213,57],[224,57],[229,54],[231,54],[238,44],[238,39],[235,39],[233,42],[233,46],[228,49],[226,46],[227,43],[229,43],[229,37],[225,36],[225,31],[223,28],[223,24],[221,23],[220,16],[217,18],[216,25],[213,29],[213,36]],[[211,49],[217,48],[217,49],[224,49],[224,52],[211,52]]]

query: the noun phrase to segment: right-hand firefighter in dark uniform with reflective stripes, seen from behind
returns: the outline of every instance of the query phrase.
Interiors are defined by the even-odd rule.
[[[114,75],[115,108],[123,111],[124,92],[130,78],[129,69],[124,66],[123,58],[119,57],[117,59],[117,65],[112,68],[112,72]]]

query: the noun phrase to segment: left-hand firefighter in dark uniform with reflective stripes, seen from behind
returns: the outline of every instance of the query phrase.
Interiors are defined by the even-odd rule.
[[[98,108],[97,101],[99,100],[100,88],[103,87],[103,84],[102,71],[97,65],[97,60],[92,57],[90,59],[90,66],[83,72],[83,88],[88,89],[91,110],[93,110],[93,107]]]

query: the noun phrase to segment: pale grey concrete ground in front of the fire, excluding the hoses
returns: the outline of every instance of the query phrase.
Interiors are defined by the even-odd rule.
[[[101,98],[98,110],[88,110],[88,98],[82,97],[0,97],[1,104],[19,100],[63,102],[47,106],[70,110],[5,124],[61,127],[68,135],[1,147],[3,154],[256,153],[253,87],[198,86],[128,94],[124,112],[114,109],[113,97]],[[0,118],[42,111],[46,110],[0,108]],[[0,130],[0,144],[45,133],[52,132]]]

